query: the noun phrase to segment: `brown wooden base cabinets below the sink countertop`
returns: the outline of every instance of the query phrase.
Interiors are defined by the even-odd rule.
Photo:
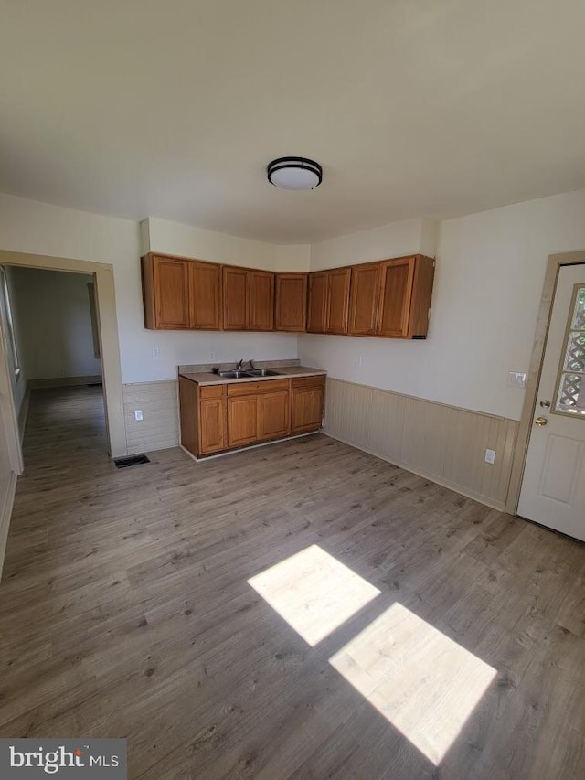
[[[179,377],[181,444],[197,456],[321,427],[323,375],[200,386]]]

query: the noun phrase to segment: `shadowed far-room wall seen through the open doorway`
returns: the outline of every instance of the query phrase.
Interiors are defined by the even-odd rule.
[[[20,359],[27,379],[101,375],[94,357],[88,283],[84,273],[12,270],[12,300]]]

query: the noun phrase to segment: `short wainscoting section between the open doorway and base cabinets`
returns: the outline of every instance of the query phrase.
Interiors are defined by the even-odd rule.
[[[177,382],[141,382],[124,385],[124,419],[128,454],[150,453],[179,443]],[[142,410],[143,420],[134,411]]]

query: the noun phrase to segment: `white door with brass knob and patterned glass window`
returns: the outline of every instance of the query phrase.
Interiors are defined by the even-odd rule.
[[[558,272],[518,515],[585,540],[585,264]]]

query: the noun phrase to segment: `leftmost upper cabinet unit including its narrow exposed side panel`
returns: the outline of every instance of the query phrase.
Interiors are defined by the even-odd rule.
[[[188,328],[188,262],[146,255],[142,270],[145,326],[160,330]]]

